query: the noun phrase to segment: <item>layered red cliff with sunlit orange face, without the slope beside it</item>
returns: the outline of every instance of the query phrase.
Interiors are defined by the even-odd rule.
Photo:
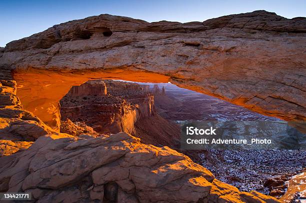
[[[61,119],[85,122],[98,133],[135,134],[134,124],[154,114],[146,86],[113,80],[91,80],[73,86],[60,100]]]

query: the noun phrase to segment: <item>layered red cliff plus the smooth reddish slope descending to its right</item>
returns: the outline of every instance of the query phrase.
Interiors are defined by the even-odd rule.
[[[157,89],[153,94],[161,95],[162,91]],[[98,133],[127,132],[145,144],[179,148],[179,126],[155,113],[154,97],[148,85],[87,81],[73,86],[60,100],[60,115],[62,122],[66,119],[83,122]],[[62,131],[62,125],[60,128],[60,132],[67,132]]]

